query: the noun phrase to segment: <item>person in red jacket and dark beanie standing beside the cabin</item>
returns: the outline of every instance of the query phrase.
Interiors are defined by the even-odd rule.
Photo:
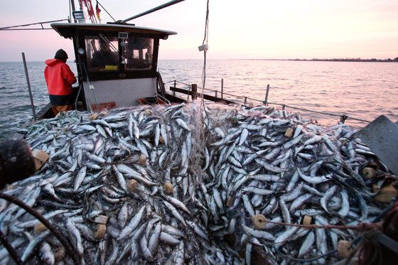
[[[72,84],[77,80],[69,65],[66,64],[68,54],[63,49],[57,50],[53,59],[45,60],[45,82],[54,114],[72,110]]]

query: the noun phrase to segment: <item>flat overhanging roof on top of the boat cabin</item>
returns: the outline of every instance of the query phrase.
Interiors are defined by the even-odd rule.
[[[144,28],[131,24],[92,24],[92,23],[51,23],[55,31],[64,38],[71,38],[76,31],[122,31],[129,33],[146,33],[158,35],[159,38],[166,39],[169,35],[177,34],[175,31],[163,31],[156,28]]]

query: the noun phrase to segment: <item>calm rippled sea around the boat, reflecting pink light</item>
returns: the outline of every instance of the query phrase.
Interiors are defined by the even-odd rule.
[[[72,71],[75,64],[68,62]],[[43,77],[43,62],[28,62],[28,75],[36,112],[48,102]],[[158,62],[163,82],[178,87],[198,84],[202,87],[202,60],[161,60]],[[398,63],[352,63],[286,60],[208,60],[205,88],[235,94],[225,98],[259,104],[270,86],[268,102],[286,104],[289,112],[317,119],[320,124],[333,125],[342,114],[354,119],[372,121],[386,115],[398,119]],[[181,83],[180,83],[181,82]],[[215,94],[214,91],[207,91]],[[186,97],[186,96],[185,96]],[[23,63],[0,63],[0,140],[11,136],[33,117]],[[279,105],[272,105],[279,107]],[[290,107],[328,112],[321,115]],[[345,123],[361,127],[367,123],[348,119]]]

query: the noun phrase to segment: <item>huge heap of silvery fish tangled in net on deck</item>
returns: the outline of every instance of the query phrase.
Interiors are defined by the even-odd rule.
[[[354,129],[270,107],[66,112],[24,133],[50,158],[4,193],[57,227],[82,264],[337,261],[330,251],[355,231],[286,224],[357,225],[383,207],[362,168],[388,169]],[[23,262],[72,264],[38,225],[1,200],[0,229]],[[1,264],[11,261],[2,247]]]

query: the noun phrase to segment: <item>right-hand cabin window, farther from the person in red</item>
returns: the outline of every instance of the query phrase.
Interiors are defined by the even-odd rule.
[[[131,36],[121,43],[126,70],[149,70],[152,68],[154,39]]]

